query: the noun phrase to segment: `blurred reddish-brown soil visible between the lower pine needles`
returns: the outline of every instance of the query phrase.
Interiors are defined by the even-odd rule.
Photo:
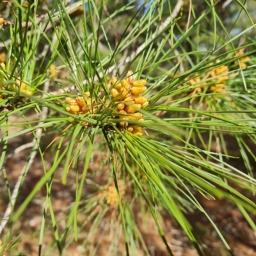
[[[30,141],[31,137],[28,137],[25,137],[24,141],[19,141],[19,143],[15,143],[15,141],[13,140],[13,143],[8,148],[8,153],[12,152],[12,150],[17,147],[17,145],[19,145],[21,142],[25,143],[25,141]],[[29,150],[24,150],[19,155],[11,157],[7,161],[7,163],[4,164],[11,190],[15,186],[20,171],[22,170],[22,167],[27,161],[28,153]],[[106,173],[104,175],[104,172],[95,172],[95,170],[99,170],[101,166],[100,161],[102,160],[102,157],[104,157],[104,154],[102,152],[94,156],[94,161],[90,165],[90,172],[88,173],[89,177],[92,177],[92,180],[100,185],[106,184],[108,180],[108,175]],[[231,162],[233,164],[236,164],[237,168],[244,169],[241,159],[233,159],[232,161]],[[47,164],[46,168],[49,169],[49,166],[51,166],[52,163],[51,154],[45,154],[45,163]],[[96,174],[92,175],[92,173]],[[41,179],[42,175],[44,175],[44,172],[42,169],[40,157],[36,156],[33,166],[31,166],[28,175],[26,176],[26,179],[22,184],[22,188],[20,189],[19,197],[17,198],[16,208],[19,207],[22,202],[24,202],[24,199],[26,198],[26,196],[29,195],[31,190],[34,188],[36,182]],[[60,232],[60,234],[65,231],[65,217],[68,212],[67,210],[68,207],[74,202],[76,194],[76,173],[72,170],[70,171],[68,175],[68,182],[66,185],[61,184],[61,175],[62,170],[60,167],[54,173],[54,183],[51,189],[52,207],[54,209],[56,221],[58,221],[58,231]],[[2,173],[0,176],[0,182],[0,216],[3,216],[6,206],[8,204],[8,193]],[[84,188],[83,195],[88,195],[88,193],[93,193],[93,188]],[[38,230],[40,230],[41,227],[45,196],[46,189],[40,189],[40,192],[37,193],[32,202],[28,205],[26,211],[24,211],[22,216],[19,218],[19,221],[17,221],[17,223],[13,225],[12,228],[14,235],[12,239],[15,239],[15,234],[21,235],[18,239],[19,243],[17,243],[17,245],[15,246],[16,251],[12,250],[6,253],[6,256],[18,255],[19,253],[17,252],[23,253],[22,255],[38,255],[38,236],[40,234]],[[253,197],[251,199],[253,200]],[[236,205],[233,205],[225,200],[207,200],[199,195],[198,200],[204,207],[207,214],[209,214],[209,216],[212,218],[214,223],[216,223],[216,226],[220,229],[221,234],[223,234],[228,245],[230,246],[230,248],[232,248],[232,252],[234,253],[234,255],[256,255],[255,232],[253,232],[250,225],[248,225],[247,221],[243,217],[243,214],[241,214],[241,212],[237,209]],[[195,248],[193,247],[193,244],[191,244],[186,234],[184,234],[182,228],[180,228],[177,223],[175,223],[175,221],[173,221],[173,219],[168,216],[168,214],[164,212],[162,213],[163,220],[161,221],[161,225],[166,235],[167,243],[172,249],[173,254],[175,256],[198,255]],[[136,224],[138,225],[138,229],[143,236],[150,255],[168,255],[168,252],[166,251],[166,246],[163,243],[163,239],[161,239],[161,236],[159,236],[159,233],[157,231],[154,219],[148,214],[148,218],[146,220],[143,220],[141,212],[138,211],[138,209],[136,209],[135,207],[134,216]],[[84,216],[82,212],[78,214],[78,224],[82,226],[86,218],[88,218],[88,216]],[[187,214],[187,218],[191,223],[197,238],[201,241],[201,247],[202,250],[204,250],[205,255],[230,255],[227,252],[224,244],[221,242],[221,239],[218,236],[216,230],[214,229],[214,227],[212,227],[210,221],[207,220],[204,213],[199,211],[193,212],[191,214]],[[254,222],[256,222],[255,216],[252,216],[252,219]],[[44,255],[58,255],[58,251],[56,249],[49,251],[49,247],[54,241],[54,230],[51,226],[51,216],[49,216],[49,214],[47,214],[46,216],[46,221],[47,228],[44,234],[42,253]],[[115,224],[111,226],[109,223]],[[116,243],[116,250],[118,251],[118,255],[124,255],[122,253],[125,252],[125,243],[122,236],[122,231],[120,230],[120,228],[116,228],[114,233],[111,234],[110,232],[111,227],[113,228],[113,226],[115,227],[115,225],[116,227],[122,227],[120,215],[117,214],[117,211],[115,209],[112,212],[106,214],[104,219],[101,221],[99,227],[97,227],[97,232],[95,232],[94,235],[89,232],[92,224],[93,221],[89,221],[84,226],[83,230],[79,232],[77,242],[72,241],[72,243],[68,244],[67,248],[65,248],[65,250],[63,251],[63,255],[88,255],[88,251],[85,252],[83,246],[81,246],[84,239],[87,238],[88,243],[86,246],[91,246],[91,248],[95,248],[95,246],[98,245],[99,247],[97,248],[97,253],[95,253],[95,255],[105,256],[107,255],[109,246],[111,245],[111,243],[113,243],[116,237],[118,237],[118,243]],[[6,228],[6,231],[7,230],[8,228]],[[101,236],[101,234],[103,235]],[[0,237],[0,239],[3,240],[3,237]],[[145,255],[143,247],[141,246],[140,250],[131,252],[131,255]]]

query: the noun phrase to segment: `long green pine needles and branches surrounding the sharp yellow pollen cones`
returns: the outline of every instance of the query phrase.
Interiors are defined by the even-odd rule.
[[[256,231],[250,215],[256,212],[253,1],[193,2],[0,4],[6,54],[0,60],[0,175],[6,184],[0,193],[10,202],[0,253],[21,253],[27,238],[13,239],[22,233],[15,223],[35,198],[43,202],[42,223],[28,237],[36,237],[39,255],[67,255],[73,243],[81,255],[98,255],[104,236],[110,237],[105,255],[152,255],[136,214],[142,223],[154,220],[169,255],[175,252],[164,216],[184,230],[198,255],[207,255],[189,212],[203,212],[233,255],[202,197],[236,205]],[[143,122],[126,118],[129,125],[120,125],[125,115],[116,108],[127,95],[113,97],[111,90],[129,79],[129,70],[147,81],[149,104],[134,110]],[[128,127],[145,132],[137,136]],[[230,141],[236,141],[236,156]],[[7,163],[23,150],[20,179],[10,189]],[[235,157],[244,169],[232,164]],[[20,202],[35,163],[42,172]],[[61,217],[54,207],[60,184],[63,193],[73,189]]]

